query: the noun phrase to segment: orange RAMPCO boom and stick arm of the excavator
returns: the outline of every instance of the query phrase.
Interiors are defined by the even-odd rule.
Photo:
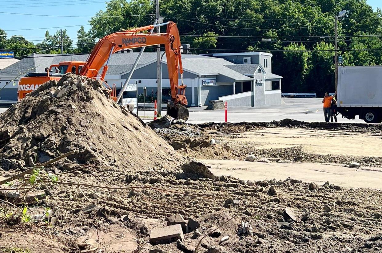
[[[97,77],[99,70],[102,66],[101,80],[104,80],[110,57],[115,52],[122,49],[132,49],[143,46],[152,46],[157,44],[164,44],[167,58],[168,77],[170,79],[171,97],[173,100],[173,108],[175,111],[187,110],[185,106],[188,104],[185,96],[186,85],[183,84],[183,67],[180,54],[180,37],[176,23],[169,21],[167,24],[166,33],[142,33],[154,28],[154,25],[144,26],[136,29],[129,29],[126,31],[118,31],[109,34],[94,46],[87,63],[84,65],[81,75],[87,77]],[[181,77],[181,84],[179,81],[179,74]],[[175,112],[177,113],[177,112]],[[174,112],[170,112],[174,115]],[[184,114],[184,113],[183,113]],[[186,112],[188,118],[188,111]],[[173,116],[170,115],[170,116]],[[184,118],[176,116],[174,118]]]

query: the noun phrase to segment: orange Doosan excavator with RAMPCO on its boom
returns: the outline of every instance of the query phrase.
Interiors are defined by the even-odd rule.
[[[60,62],[46,68],[44,73],[28,73],[20,78],[18,85],[18,99],[22,99],[27,93],[37,89],[39,85],[49,80],[60,80],[65,73],[72,72],[84,75],[89,78],[100,78],[104,81],[108,70],[108,62],[115,52],[123,49],[133,49],[137,47],[152,46],[157,44],[165,45],[167,57],[168,77],[170,79],[170,90],[173,104],[168,104],[167,114],[175,119],[188,119],[188,109],[185,107],[188,102],[185,96],[186,85],[183,84],[183,67],[180,54],[180,37],[176,23],[167,23],[166,33],[143,33],[152,30],[158,25],[148,25],[141,28],[118,31],[100,39],[92,49],[86,62],[72,61]],[[163,24],[160,24],[163,25]],[[104,67],[100,74],[100,69]],[[53,73],[55,71],[56,73]],[[179,84],[179,75],[181,83]],[[104,82],[105,83],[105,82]],[[105,83],[107,85],[107,83]],[[110,87],[108,87],[110,89]],[[117,101],[116,94],[112,98]],[[120,92],[123,92],[121,90]]]

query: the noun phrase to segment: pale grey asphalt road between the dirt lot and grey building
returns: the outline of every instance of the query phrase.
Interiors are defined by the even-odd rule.
[[[321,98],[285,98],[280,106],[254,107],[230,107],[228,104],[228,122],[266,122],[282,119],[295,119],[299,121],[324,121]],[[0,113],[7,108],[0,108]],[[143,111],[138,112],[143,116]],[[162,112],[162,116],[165,112]],[[154,116],[153,111],[146,111],[146,116]],[[224,122],[224,110],[206,110],[206,106],[189,108],[189,123]],[[149,121],[149,119],[144,119]],[[360,119],[342,119],[338,115],[338,122],[364,122]]]

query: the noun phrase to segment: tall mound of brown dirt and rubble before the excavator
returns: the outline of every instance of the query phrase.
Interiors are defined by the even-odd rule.
[[[168,159],[175,162],[180,157],[138,117],[112,101],[101,82],[71,73],[44,83],[1,114],[2,131],[10,136],[0,146],[4,170],[34,166],[70,150],[74,154],[67,163],[129,171],[170,167]]]

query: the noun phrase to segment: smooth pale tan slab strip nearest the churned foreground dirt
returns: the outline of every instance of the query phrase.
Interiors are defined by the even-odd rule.
[[[285,180],[331,184],[349,188],[382,189],[382,168],[347,168],[323,163],[258,163],[238,160],[201,160],[216,176],[235,176],[242,180]]]

